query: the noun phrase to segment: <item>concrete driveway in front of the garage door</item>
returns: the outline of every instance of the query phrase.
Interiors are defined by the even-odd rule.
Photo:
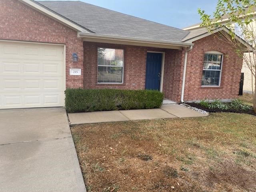
[[[0,110],[0,191],[85,192],[64,108]]]

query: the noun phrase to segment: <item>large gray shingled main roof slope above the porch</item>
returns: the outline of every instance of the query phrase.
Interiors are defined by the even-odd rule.
[[[80,1],[37,2],[97,34],[181,42],[189,33]]]

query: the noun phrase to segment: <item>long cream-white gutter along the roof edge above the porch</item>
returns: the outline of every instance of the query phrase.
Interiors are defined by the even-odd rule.
[[[84,37],[84,38],[98,38],[98,39],[120,40],[120,41],[130,41],[130,42],[144,42],[144,43],[164,44],[164,45],[182,46],[182,47],[190,47],[190,46],[194,45],[192,43],[185,43],[185,42],[152,40],[152,39],[146,39],[146,38],[134,38],[134,37],[105,35],[105,34],[86,33],[86,32],[78,32],[78,36]]]

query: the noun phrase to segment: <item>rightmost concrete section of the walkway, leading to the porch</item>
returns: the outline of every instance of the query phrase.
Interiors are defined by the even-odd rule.
[[[187,117],[207,117],[207,115],[194,111],[190,108],[181,105],[162,105],[162,110],[171,113],[179,118]]]

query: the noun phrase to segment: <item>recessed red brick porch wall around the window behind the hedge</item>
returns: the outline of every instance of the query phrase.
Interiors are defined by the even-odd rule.
[[[98,84],[97,83],[97,49],[116,48],[124,49],[124,83]],[[117,88],[117,89],[145,89],[146,55],[147,51],[166,52],[168,58],[172,51],[160,48],[129,46],[120,44],[104,44],[84,42],[84,88]],[[168,59],[165,60],[168,62]],[[171,66],[172,67],[172,66]]]

